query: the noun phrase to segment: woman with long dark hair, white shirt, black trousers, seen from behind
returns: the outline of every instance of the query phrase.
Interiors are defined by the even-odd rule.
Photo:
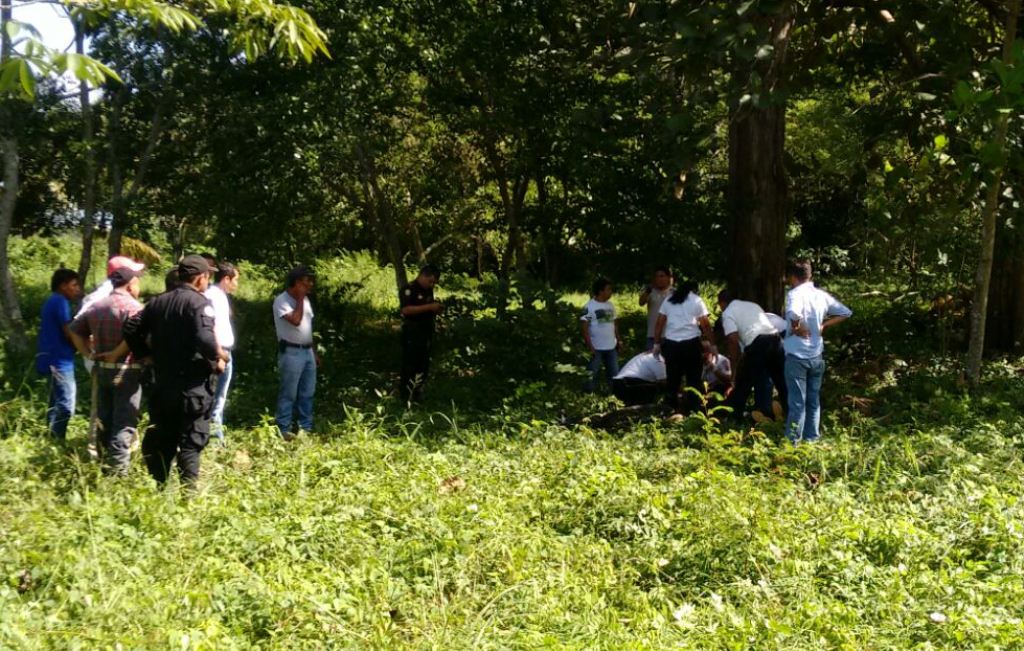
[[[700,386],[703,371],[701,334],[711,339],[708,306],[697,295],[696,285],[681,283],[658,310],[652,351],[655,355],[665,355],[669,402],[677,411],[685,405],[685,413],[689,414],[700,404],[703,394]],[[684,378],[685,388],[682,387]],[[694,391],[686,391],[685,400],[680,400],[681,389]]]

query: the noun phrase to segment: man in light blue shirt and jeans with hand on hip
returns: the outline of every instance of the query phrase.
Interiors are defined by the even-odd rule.
[[[788,336],[785,349],[785,385],[790,414],[785,435],[793,443],[818,440],[821,423],[821,380],[825,373],[825,330],[848,319],[853,312],[811,283],[811,264],[794,262],[786,269],[790,292],[785,297]]]

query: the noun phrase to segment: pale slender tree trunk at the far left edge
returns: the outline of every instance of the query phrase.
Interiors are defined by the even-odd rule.
[[[6,62],[11,55],[12,44],[7,24],[11,19],[12,6],[9,2],[0,3],[0,63]],[[19,182],[17,131],[13,126],[12,115],[14,101],[16,100],[0,97],[0,157],[3,164],[3,193],[0,194],[0,326],[7,333],[7,345],[15,351],[23,351],[28,348],[28,340],[25,337],[22,308],[14,291],[14,278],[10,274],[7,251],[10,230],[14,225],[14,206]]]

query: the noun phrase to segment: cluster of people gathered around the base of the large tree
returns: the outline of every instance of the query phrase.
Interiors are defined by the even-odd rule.
[[[664,395],[677,414],[717,403],[736,417],[745,414],[753,393],[755,421],[784,422],[794,443],[816,441],[825,368],[822,335],[852,312],[811,278],[809,262],[787,265],[783,316],[723,290],[713,326],[696,287],[675,285],[671,270],[659,267],[639,299],[647,308],[646,350],[622,368],[613,288],[599,278],[581,316],[591,352],[586,389],[596,389],[603,367],[611,391],[627,405],[653,403]],[[727,355],[718,352],[717,341],[724,342]]]

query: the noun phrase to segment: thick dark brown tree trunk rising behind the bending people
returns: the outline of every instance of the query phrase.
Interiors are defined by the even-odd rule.
[[[780,310],[783,302],[790,198],[784,165],[785,103],[777,91],[793,25],[790,5],[771,17],[774,49],[768,62],[759,66],[759,97],[736,106],[729,120],[728,281],[740,298],[768,311]]]

